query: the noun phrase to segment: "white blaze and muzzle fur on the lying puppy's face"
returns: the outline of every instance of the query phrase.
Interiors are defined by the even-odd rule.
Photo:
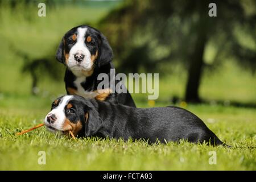
[[[54,127],[57,130],[63,130],[63,125],[66,119],[65,116],[65,106],[68,104],[68,102],[72,99],[73,96],[64,96],[61,98],[60,103],[55,109],[52,109],[47,115],[49,114],[55,114],[56,121],[51,124],[52,127]],[[46,123],[46,126],[49,126],[50,124],[47,121],[47,115],[44,119],[44,123]]]

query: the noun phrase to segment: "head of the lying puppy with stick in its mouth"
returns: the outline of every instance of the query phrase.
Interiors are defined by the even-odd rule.
[[[51,111],[44,123],[53,133],[68,135],[68,131],[77,136],[92,136],[101,126],[97,110],[89,100],[80,96],[63,96],[52,103]]]

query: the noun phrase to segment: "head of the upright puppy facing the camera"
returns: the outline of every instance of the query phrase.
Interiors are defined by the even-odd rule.
[[[56,59],[67,65],[76,75],[93,72],[113,59],[108,40],[100,31],[89,26],[78,26],[69,30],[57,48]]]

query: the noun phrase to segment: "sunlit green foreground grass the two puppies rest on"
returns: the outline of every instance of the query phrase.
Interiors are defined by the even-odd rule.
[[[34,102],[42,99],[34,98]],[[31,101],[30,101],[31,102]],[[29,102],[28,102],[29,103]],[[138,103],[138,102],[137,102]],[[17,103],[17,105],[22,105]],[[47,105],[48,106],[48,105]],[[143,106],[143,104],[141,104]],[[188,105],[218,137],[233,148],[204,144],[154,144],[114,139],[69,139],[44,127],[15,133],[42,122],[48,112],[28,107],[0,107],[0,169],[15,170],[255,170],[256,112],[237,107]],[[246,116],[246,118],[245,118]],[[38,164],[38,152],[46,151],[46,165]],[[217,164],[210,165],[209,151],[216,151]]]

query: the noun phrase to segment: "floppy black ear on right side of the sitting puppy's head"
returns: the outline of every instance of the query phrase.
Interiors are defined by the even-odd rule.
[[[101,39],[101,47],[100,47],[100,59],[98,60],[98,67],[105,65],[112,61],[113,59],[113,51],[109,45],[108,40],[103,34],[100,34]]]

